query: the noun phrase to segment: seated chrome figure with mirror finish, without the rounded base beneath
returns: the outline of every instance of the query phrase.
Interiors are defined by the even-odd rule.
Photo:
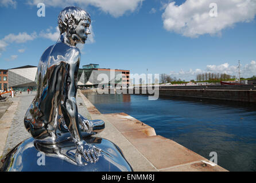
[[[91,17],[79,7],[60,12],[60,38],[44,51],[37,69],[37,95],[26,112],[24,124],[42,144],[55,144],[73,138],[77,151],[87,161],[98,160],[100,150],[83,140],[82,130],[92,126],[79,120],[76,106],[77,73],[80,51],[90,34]],[[82,129],[81,129],[82,128]]]

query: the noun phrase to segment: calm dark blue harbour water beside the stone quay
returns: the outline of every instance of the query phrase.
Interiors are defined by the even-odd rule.
[[[256,105],[191,98],[86,94],[101,113],[127,113],[230,171],[256,171]],[[171,156],[171,154],[170,154]]]

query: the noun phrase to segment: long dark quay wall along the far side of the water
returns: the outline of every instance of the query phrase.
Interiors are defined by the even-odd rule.
[[[97,92],[96,89],[82,90],[84,93]],[[256,102],[256,85],[238,86],[160,86],[159,88],[137,87],[129,89],[105,89],[104,93],[146,94],[159,96],[207,98],[214,100]]]

